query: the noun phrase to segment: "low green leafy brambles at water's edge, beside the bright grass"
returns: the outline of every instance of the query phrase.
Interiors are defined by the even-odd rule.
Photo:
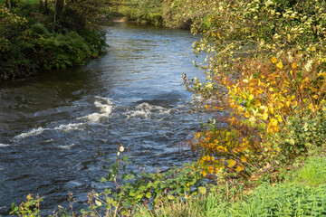
[[[191,198],[205,194],[206,187],[202,175],[195,164],[184,165],[181,168],[171,168],[167,172],[148,174],[141,170],[130,170],[129,164],[137,163],[125,155],[124,146],[117,152],[117,161],[108,169],[108,178],[101,182],[112,182],[115,190],[108,189],[103,193],[91,193],[91,212],[88,214],[120,213],[132,215],[137,205],[156,205],[174,201],[179,197]],[[141,165],[139,165],[141,168]]]

